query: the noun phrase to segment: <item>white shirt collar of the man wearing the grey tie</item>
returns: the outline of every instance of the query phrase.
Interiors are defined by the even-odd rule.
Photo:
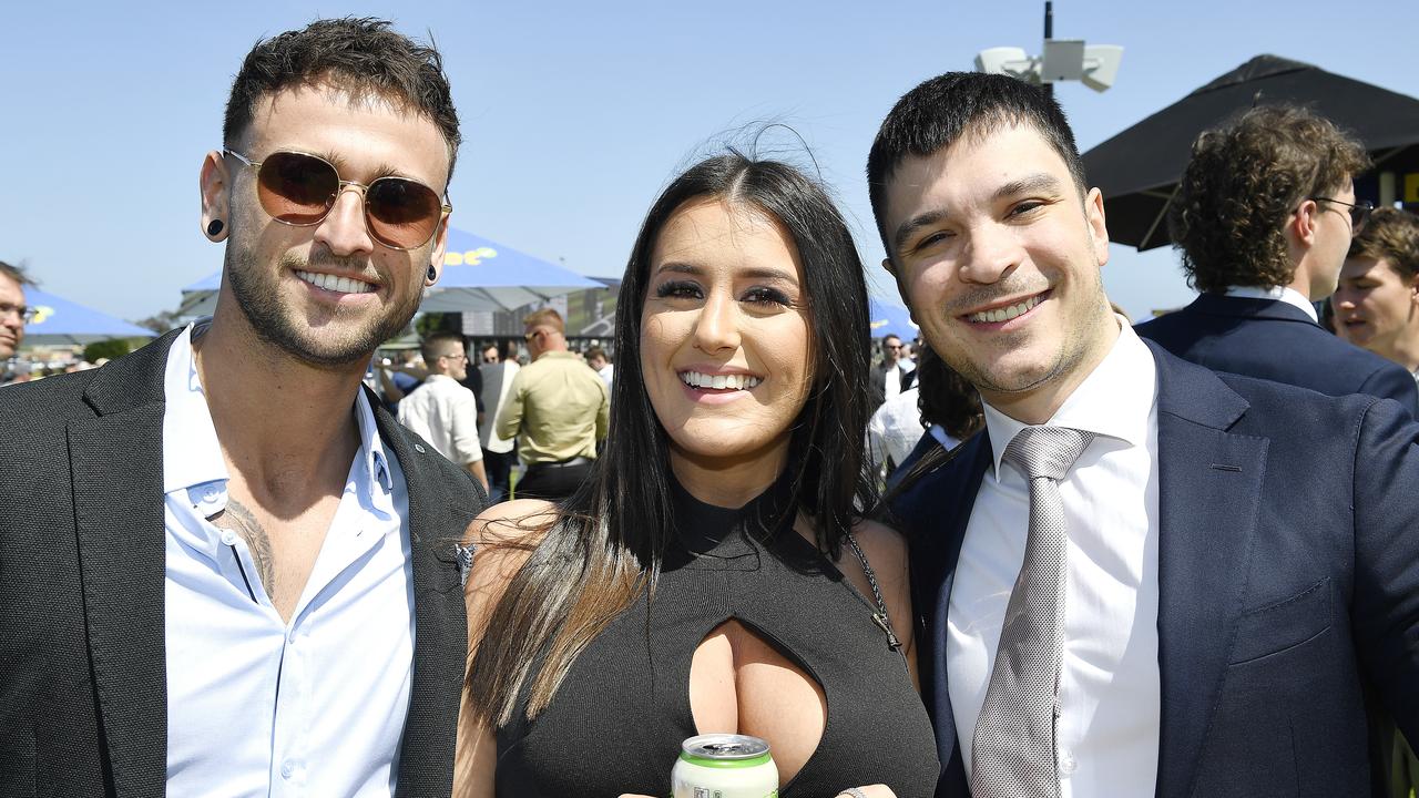
[[[1118,339],[1112,349],[1064,399],[1044,426],[1081,429],[1125,442],[1148,444],[1148,416],[1158,400],[1158,366],[1128,319],[1117,317]],[[1000,479],[1000,459],[1015,436],[1030,426],[982,402],[985,426],[990,433],[995,479]]]

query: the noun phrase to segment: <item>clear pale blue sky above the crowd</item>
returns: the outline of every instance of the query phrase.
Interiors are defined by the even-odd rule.
[[[793,132],[771,129],[759,152],[817,165],[893,300],[863,177],[881,118],[982,48],[1037,53],[1043,33],[1040,0],[13,3],[0,260],[112,315],[173,310],[221,266],[197,229],[197,169],[243,55],[343,14],[393,18],[443,50],[464,133],[455,227],[619,275],[678,169],[782,122]],[[1261,53],[1419,95],[1416,30],[1415,0],[1057,0],[1056,37],[1125,48],[1112,89],[1057,97],[1088,149]],[[1168,248],[1112,247],[1104,281],[1134,317],[1191,297]]]

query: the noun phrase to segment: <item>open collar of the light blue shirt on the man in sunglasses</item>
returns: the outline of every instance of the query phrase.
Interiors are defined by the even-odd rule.
[[[211,423],[207,395],[197,378],[197,361],[193,358],[192,338],[194,325],[189,324],[173,339],[167,352],[167,369],[163,376],[163,396],[167,408],[163,412],[163,493],[190,488],[207,483],[221,483],[230,479],[217,429]],[[200,334],[200,332],[199,332]],[[355,422],[359,426],[359,457],[370,481],[393,490],[389,457],[379,437],[375,410],[363,390],[355,395]]]

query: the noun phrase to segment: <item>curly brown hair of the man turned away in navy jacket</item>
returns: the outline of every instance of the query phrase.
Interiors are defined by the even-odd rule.
[[[1188,284],[1205,293],[1288,284],[1287,217],[1368,168],[1358,141],[1294,105],[1260,105],[1203,131],[1168,210]]]

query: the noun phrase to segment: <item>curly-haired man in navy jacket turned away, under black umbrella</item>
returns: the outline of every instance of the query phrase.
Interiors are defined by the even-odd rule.
[[[1138,334],[1216,371],[1389,398],[1419,416],[1410,375],[1330,335],[1311,304],[1335,291],[1365,224],[1352,179],[1368,166],[1359,142],[1303,108],[1253,108],[1198,136],[1169,226],[1202,295]]]

